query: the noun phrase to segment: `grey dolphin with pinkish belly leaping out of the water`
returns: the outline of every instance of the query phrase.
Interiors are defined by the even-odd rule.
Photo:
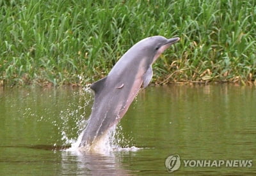
[[[116,62],[107,77],[90,85],[95,99],[79,147],[95,145],[111,126],[120,121],[141,87],[150,83],[152,64],[166,48],[179,40],[178,37],[152,36],[139,41]]]

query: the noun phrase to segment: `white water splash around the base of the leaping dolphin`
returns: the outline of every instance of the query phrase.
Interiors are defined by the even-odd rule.
[[[131,136],[124,135],[122,126],[120,124],[116,124],[110,128],[108,133],[100,137],[99,140],[94,142],[92,146],[79,147],[83,138],[84,128],[88,122],[88,120],[84,120],[89,115],[86,108],[90,107],[93,101],[93,94],[92,90],[90,89],[90,85],[87,85],[79,92],[75,92],[74,96],[80,96],[83,98],[83,101],[81,100],[81,102],[79,102],[77,109],[70,107],[67,108],[67,110],[60,112],[62,121],[61,126],[59,126],[61,131],[61,141],[63,142],[63,145],[71,145],[67,151],[110,154],[111,152],[116,151],[136,151],[141,149],[133,145],[134,139]],[[86,97],[86,100],[84,100],[84,97]],[[70,106],[74,105],[70,103]],[[76,121],[76,126],[70,128],[70,126],[68,126],[70,121]],[[74,131],[76,131],[75,135]],[[78,137],[76,138],[76,136]]]

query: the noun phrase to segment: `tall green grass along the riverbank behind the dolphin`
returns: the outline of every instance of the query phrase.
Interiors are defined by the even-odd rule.
[[[1,85],[84,85],[137,41],[179,36],[153,82],[255,82],[256,1],[0,0]]]

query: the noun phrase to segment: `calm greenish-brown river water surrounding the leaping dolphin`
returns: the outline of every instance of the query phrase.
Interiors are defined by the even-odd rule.
[[[147,87],[109,135],[113,149],[70,150],[92,103],[89,89],[1,90],[0,175],[171,175],[173,155],[177,175],[256,174],[254,87]]]

